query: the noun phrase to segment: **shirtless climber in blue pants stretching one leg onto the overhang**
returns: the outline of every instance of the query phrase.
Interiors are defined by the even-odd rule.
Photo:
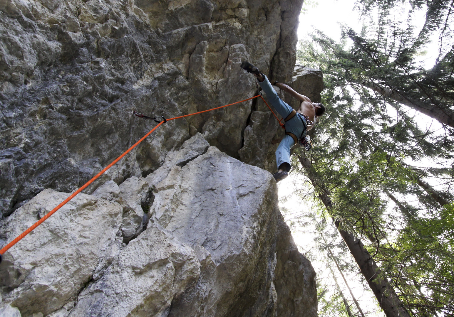
[[[276,91],[272,88],[270,81],[266,76],[254,65],[248,62],[243,62],[241,68],[248,73],[254,74],[259,82],[260,87],[266,93],[266,97],[271,102],[271,105],[279,114],[285,118],[286,136],[282,138],[281,143],[276,150],[277,172],[273,174],[276,182],[283,180],[288,176],[291,169],[290,165],[290,149],[299,141],[303,132],[311,130],[315,117],[320,117],[325,113],[325,106],[319,102],[311,102],[311,99],[297,93],[284,83],[274,82],[274,85],[290,93],[291,96],[301,101],[298,110],[294,110],[286,102],[283,102]]]

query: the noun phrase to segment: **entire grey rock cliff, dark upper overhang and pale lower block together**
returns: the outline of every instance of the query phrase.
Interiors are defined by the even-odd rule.
[[[133,110],[250,98],[243,60],[316,100],[301,3],[0,0],[0,244],[156,125]],[[268,173],[282,134],[259,99],[158,128],[4,254],[0,316],[316,316]]]

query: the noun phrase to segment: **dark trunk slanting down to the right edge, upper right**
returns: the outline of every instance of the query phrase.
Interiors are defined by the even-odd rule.
[[[440,109],[440,107],[434,105],[433,103],[410,100],[409,98],[402,96],[394,89],[381,87],[379,84],[374,82],[362,81],[360,84],[364,87],[372,89],[376,93],[380,93],[385,98],[392,98],[396,102],[402,103],[405,106],[424,113],[425,115],[428,115],[441,123],[447,124],[450,127],[454,127],[454,112],[452,112],[449,108]]]

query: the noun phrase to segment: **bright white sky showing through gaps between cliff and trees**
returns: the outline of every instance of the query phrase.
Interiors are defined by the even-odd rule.
[[[341,37],[339,24],[346,24],[359,33],[362,28],[362,22],[359,21],[360,17],[358,12],[353,10],[355,1],[356,0],[317,0],[318,5],[315,7],[308,7],[308,13],[300,15],[298,38],[300,40],[308,40],[308,34],[312,33],[314,29],[319,29],[332,39],[339,40]],[[422,27],[422,24],[424,23],[424,14],[424,10],[420,10],[415,13],[414,20],[420,21],[421,23],[416,27],[415,32],[419,32],[419,29]],[[401,17],[396,15],[394,19],[398,20],[401,19]],[[437,54],[436,47],[437,45],[429,45],[427,48],[428,53],[420,59],[421,61],[424,61],[424,67],[426,69],[431,68],[434,64]],[[409,109],[409,111],[411,110]],[[419,113],[415,112],[415,115],[419,116]],[[421,116],[423,116],[421,117],[421,124],[424,122],[421,128],[424,128],[424,125],[434,124],[431,118],[424,115]],[[436,122],[435,124],[439,123]],[[297,175],[296,173],[290,174],[290,176],[285,180],[279,182],[278,188],[280,197],[279,205],[281,209],[285,209],[285,218],[287,223],[290,224],[291,218],[293,218],[296,214],[304,213],[312,208],[313,197],[306,197],[305,200],[302,200],[297,195],[291,194],[298,189],[307,191],[306,186],[304,185],[304,178],[301,175]],[[299,246],[301,253],[316,252],[314,249],[315,242],[312,235],[309,233],[313,230],[313,228],[298,228],[295,226],[292,229],[293,237],[296,244]],[[347,261],[354,261],[350,254],[345,254],[345,258]],[[326,278],[329,281],[332,278],[329,273],[329,269],[326,268],[325,262],[326,260],[319,256],[317,260],[312,260],[311,263],[317,272],[317,278]],[[364,291],[364,288],[360,283],[362,276],[360,275],[359,270],[355,274],[350,274],[350,276],[348,276],[346,272],[344,273],[347,275],[346,278],[350,284],[350,288],[352,288],[355,297],[360,302],[361,308],[365,312],[370,312],[367,316],[384,317],[385,314],[377,309],[378,303],[373,294],[371,292]],[[346,289],[340,276],[338,276],[338,282],[341,284],[341,288],[343,289],[344,295],[347,297],[349,303],[353,304],[350,294],[348,293],[348,290]],[[335,290],[333,289],[331,294],[334,292]],[[353,309],[356,310],[356,308]]]

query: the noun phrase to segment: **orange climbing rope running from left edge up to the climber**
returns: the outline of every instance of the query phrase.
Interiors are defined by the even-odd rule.
[[[195,114],[199,114],[199,113],[203,113],[203,112],[208,112],[208,111],[212,111],[212,110],[216,110],[216,109],[221,109],[221,108],[224,108],[224,107],[228,107],[228,106],[232,106],[232,105],[235,105],[237,103],[240,103],[240,102],[245,102],[245,101],[248,101],[248,100],[251,100],[251,99],[254,99],[254,98],[257,98],[257,97],[260,97],[262,98],[263,102],[265,102],[266,106],[268,106],[268,104],[266,103],[265,99],[263,99],[262,95],[257,95],[257,96],[254,96],[252,98],[247,98],[247,99],[244,99],[242,101],[238,101],[238,102],[234,102],[234,103],[230,103],[228,105],[225,105],[225,106],[221,106],[221,107],[216,107],[216,108],[212,108],[212,109],[208,109],[208,110],[204,110],[204,111],[199,111],[199,112],[195,112],[195,113],[191,113],[191,114],[187,114],[187,115],[184,115],[184,116],[180,116],[180,117],[174,117],[174,118],[170,118],[170,119],[167,119],[164,121],[161,121],[158,123],[158,125],[156,127],[154,127],[153,129],[151,129],[150,132],[148,132],[147,134],[145,134],[139,141],[137,141],[136,143],[134,143],[133,146],[131,146],[127,151],[125,151],[122,155],[118,156],[117,159],[115,159],[115,161],[113,161],[112,163],[110,163],[108,166],[104,167],[104,169],[102,171],[100,171],[98,174],[96,174],[96,176],[94,176],[91,180],[89,180],[88,182],[86,182],[82,187],[80,187],[78,190],[76,190],[73,194],[71,194],[68,198],[66,198],[65,200],[63,200],[57,207],[55,207],[53,210],[51,210],[49,213],[47,213],[46,215],[44,215],[43,218],[39,219],[35,224],[33,224],[30,228],[28,228],[27,230],[25,230],[23,233],[21,233],[17,238],[15,238],[13,241],[11,241],[9,244],[6,244],[1,250],[0,250],[0,254],[3,255],[8,249],[10,249],[13,245],[15,245],[16,243],[18,243],[20,241],[20,239],[24,238],[27,234],[29,234],[31,231],[33,231],[33,229],[35,229],[36,227],[38,227],[40,224],[42,224],[47,218],[49,218],[51,215],[53,215],[57,210],[59,210],[61,207],[63,207],[69,200],[73,199],[75,195],[79,194],[82,190],[84,190],[85,188],[87,188],[88,185],[90,185],[91,183],[93,183],[99,176],[103,175],[105,171],[107,171],[109,168],[111,168],[112,166],[114,166],[118,161],[120,161],[123,156],[125,156],[126,154],[128,154],[134,147],[136,147],[140,142],[142,142],[143,140],[145,140],[146,137],[148,137],[154,130],[156,130],[161,124],[163,124],[164,122],[166,121],[169,121],[169,120],[175,120],[175,119],[179,119],[179,118],[184,118],[184,117],[189,117],[189,116],[193,116]],[[268,108],[270,108],[271,110],[271,107],[268,106]],[[277,121],[279,122],[279,124],[281,125],[281,127],[284,127],[284,124],[281,123],[281,120],[279,120],[279,118],[276,116],[276,114],[271,110],[271,112],[273,113],[273,115],[276,117]]]

